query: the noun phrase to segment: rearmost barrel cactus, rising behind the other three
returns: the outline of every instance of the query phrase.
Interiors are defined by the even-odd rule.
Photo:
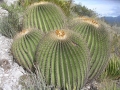
[[[61,29],[65,25],[65,15],[53,3],[39,2],[28,7],[24,17],[25,28],[38,28],[43,32]]]

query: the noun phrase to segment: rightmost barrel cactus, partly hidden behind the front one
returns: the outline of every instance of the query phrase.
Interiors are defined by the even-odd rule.
[[[70,28],[80,33],[88,44],[91,56],[89,81],[92,81],[101,74],[109,60],[107,31],[97,21],[87,17],[74,19]]]

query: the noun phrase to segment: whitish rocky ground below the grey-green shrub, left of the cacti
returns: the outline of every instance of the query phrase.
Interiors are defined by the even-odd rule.
[[[0,90],[20,90],[18,80],[25,74],[23,68],[13,62],[12,41],[0,34]]]

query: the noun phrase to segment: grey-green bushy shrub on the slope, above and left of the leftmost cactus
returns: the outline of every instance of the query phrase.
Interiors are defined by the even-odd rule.
[[[13,38],[22,28],[19,20],[19,14],[22,12],[22,8],[17,4],[8,6],[6,3],[1,4],[1,7],[8,12],[8,15],[2,17],[0,33],[8,38]]]

